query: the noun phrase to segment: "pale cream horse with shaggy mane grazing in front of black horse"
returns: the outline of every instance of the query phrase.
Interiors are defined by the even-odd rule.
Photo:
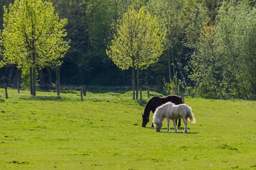
[[[163,119],[167,119],[167,132],[170,131],[170,119],[173,120],[175,132],[178,132],[175,119],[182,119],[185,124],[184,132],[188,132],[187,121],[190,119],[191,123],[196,123],[196,119],[192,114],[192,108],[187,104],[175,105],[172,102],[167,102],[157,108],[153,116],[153,124],[157,126],[157,132],[160,132],[163,124]]]

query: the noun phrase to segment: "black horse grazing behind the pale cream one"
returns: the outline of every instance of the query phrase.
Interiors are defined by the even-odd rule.
[[[173,102],[175,104],[183,103],[181,97],[177,95],[169,95],[164,97],[154,96],[152,99],[148,101],[148,103],[145,106],[144,113],[142,114],[142,127],[146,127],[146,124],[149,122],[150,111],[154,113],[158,108],[158,106],[166,102]],[[177,124],[177,120],[176,120],[176,124]],[[178,119],[178,127],[179,126],[180,126],[180,119]],[[153,123],[151,127],[154,127]]]

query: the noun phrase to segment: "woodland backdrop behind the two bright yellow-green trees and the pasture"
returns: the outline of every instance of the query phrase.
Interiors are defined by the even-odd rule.
[[[13,1],[0,0],[0,29],[2,6]],[[144,6],[167,36],[159,61],[139,72],[140,85],[162,88],[165,82],[172,93],[256,99],[255,0],[51,1],[59,17],[68,18],[65,29],[71,39],[60,67],[61,84],[131,86],[132,70],[115,66],[106,48],[111,24],[131,6]],[[1,69],[1,76],[15,77],[12,69],[17,68]],[[55,81],[55,70],[47,69]]]

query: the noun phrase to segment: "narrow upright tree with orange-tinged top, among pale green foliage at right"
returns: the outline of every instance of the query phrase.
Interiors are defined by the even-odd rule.
[[[219,85],[222,65],[221,58],[217,53],[215,26],[203,26],[199,42],[195,45],[195,52],[191,56],[190,67],[192,72],[190,78],[198,88],[200,96],[216,99],[221,93]]]

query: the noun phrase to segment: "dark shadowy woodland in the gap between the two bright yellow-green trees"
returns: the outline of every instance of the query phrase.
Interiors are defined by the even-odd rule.
[[[108,32],[113,21],[123,16],[128,0],[52,0],[66,25],[70,49],[61,69],[62,81],[71,84],[117,85],[123,72],[106,54]],[[114,77],[114,75],[116,75]],[[118,79],[122,76],[124,80]],[[114,79],[113,79],[114,77]],[[110,81],[111,80],[111,81]]]

